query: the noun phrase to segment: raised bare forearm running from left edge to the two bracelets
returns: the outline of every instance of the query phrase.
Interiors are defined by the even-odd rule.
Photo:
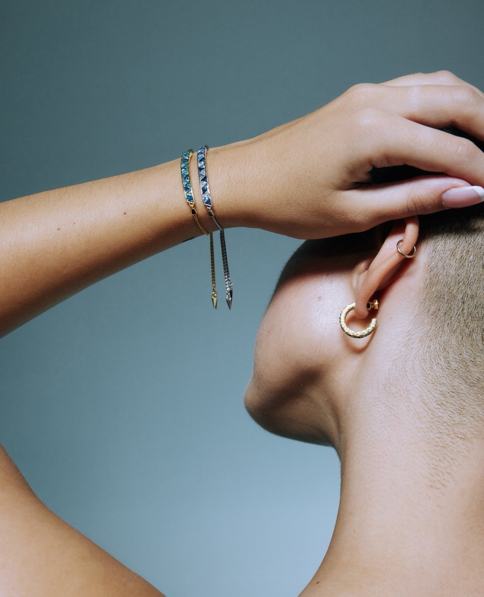
[[[220,187],[218,153],[211,149],[207,162]],[[190,170],[198,217],[213,230],[196,153]],[[185,201],[179,159],[6,201],[0,223],[1,335],[93,282],[201,235]]]

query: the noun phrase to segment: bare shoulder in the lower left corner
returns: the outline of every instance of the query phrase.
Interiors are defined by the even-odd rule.
[[[1,446],[0,595],[164,597],[45,507]]]

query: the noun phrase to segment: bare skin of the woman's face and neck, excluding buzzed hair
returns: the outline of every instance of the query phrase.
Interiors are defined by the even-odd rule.
[[[259,330],[249,412],[279,435],[333,445],[341,460],[335,531],[301,597],[483,594],[484,433],[462,432],[455,445],[446,438],[443,455],[433,457],[442,445],[439,410],[429,416],[425,404],[445,404],[448,390],[422,383],[430,362],[418,373],[399,371],[402,337],[410,338],[409,351],[419,341],[406,331],[415,325],[427,258],[419,247],[415,259],[395,266],[401,233],[399,221],[388,235],[376,229],[373,238],[336,248],[305,244]],[[372,268],[378,326],[350,338],[338,315]],[[355,330],[368,322],[347,320]],[[462,392],[479,404],[484,387],[469,383]]]

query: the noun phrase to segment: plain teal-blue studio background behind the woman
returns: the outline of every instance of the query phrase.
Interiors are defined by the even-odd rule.
[[[483,88],[483,17],[482,0],[3,0],[0,198],[247,139],[357,82],[445,68]],[[299,241],[226,239],[231,312],[212,309],[198,238],[5,337],[0,441],[54,512],[169,597],[293,596],[330,540],[338,459],[259,429],[242,399]]]

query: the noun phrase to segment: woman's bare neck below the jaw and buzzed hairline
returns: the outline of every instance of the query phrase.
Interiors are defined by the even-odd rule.
[[[482,595],[484,442],[446,441],[409,401],[345,420],[336,527],[302,596]]]

